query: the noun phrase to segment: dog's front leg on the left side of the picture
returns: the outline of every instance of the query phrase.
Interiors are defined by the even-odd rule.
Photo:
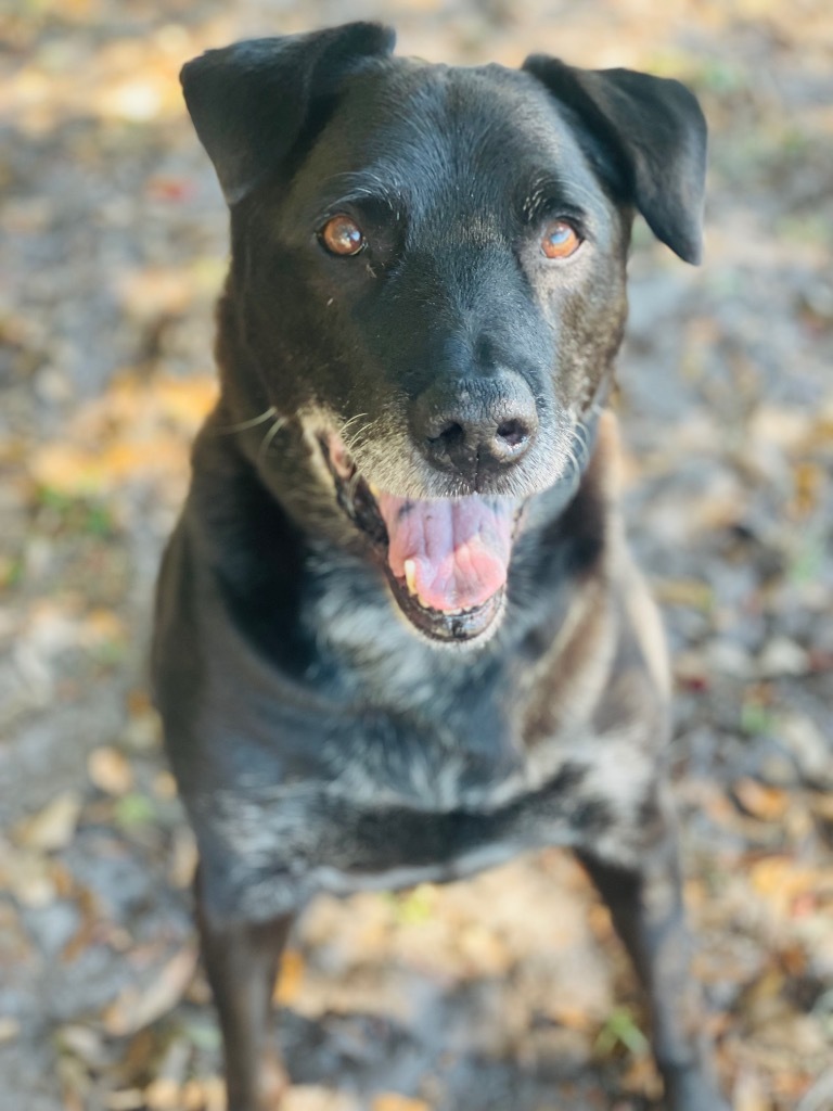
[[[275,1111],[287,1075],[271,1041],[272,992],[293,915],[215,924],[195,883],[202,958],[220,1015],[229,1111]]]

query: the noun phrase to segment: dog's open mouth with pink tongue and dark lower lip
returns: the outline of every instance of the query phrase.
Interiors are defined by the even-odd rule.
[[[409,621],[446,642],[490,630],[503,612],[519,502],[400,498],[369,483],[338,437],[320,443],[339,503],[370,540]]]

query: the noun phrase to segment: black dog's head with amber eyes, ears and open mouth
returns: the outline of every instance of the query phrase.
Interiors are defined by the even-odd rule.
[[[232,211],[253,381],[231,388],[300,414],[401,609],[468,640],[501,612],[524,501],[583,461],[634,209],[699,260],[705,126],[675,81],[392,46],[353,23],[212,50],[182,79]]]

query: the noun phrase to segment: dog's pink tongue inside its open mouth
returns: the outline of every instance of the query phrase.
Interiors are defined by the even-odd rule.
[[[515,506],[510,499],[411,501],[380,493],[388,562],[411,593],[434,610],[470,610],[506,581]]]

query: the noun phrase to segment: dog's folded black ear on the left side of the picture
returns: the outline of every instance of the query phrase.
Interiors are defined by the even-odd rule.
[[[363,58],[393,51],[380,23],[345,23],[310,34],[251,39],[207,50],[180,74],[197,134],[229,206],[290,153],[314,101],[331,97]]]

